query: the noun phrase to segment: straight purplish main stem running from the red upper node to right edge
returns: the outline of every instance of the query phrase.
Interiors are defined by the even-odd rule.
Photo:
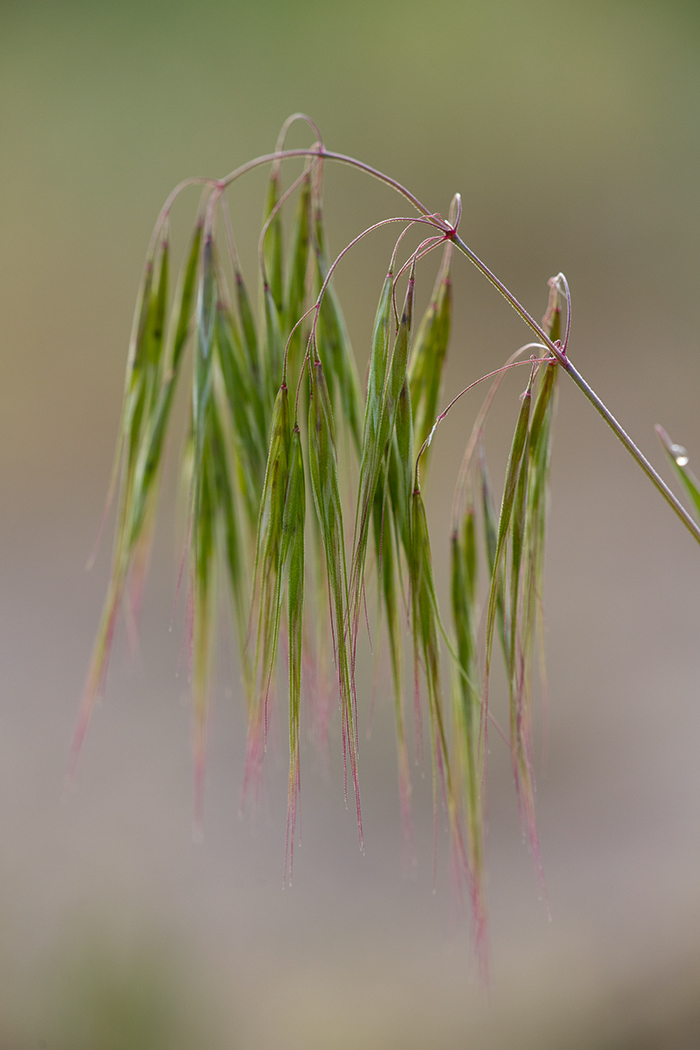
[[[543,331],[543,329],[540,328],[539,324],[537,324],[535,319],[530,316],[525,307],[523,307],[517,301],[512,292],[509,292],[509,290],[506,288],[503,281],[499,280],[495,274],[492,273],[484,262],[482,262],[479,256],[475,255],[474,252],[472,252],[472,250],[467,245],[465,245],[465,243],[462,240],[462,238],[458,233],[454,233],[451,239],[454,242],[460,251],[463,252],[467,256],[467,258],[471,262],[473,262],[476,269],[484,274],[486,279],[490,281],[490,284],[493,285],[493,287],[499,292],[501,292],[503,297],[510,303],[515,313],[519,317],[522,317],[522,319],[530,329],[532,329],[537,338],[545,343],[547,349],[550,350],[552,354],[554,354],[554,356],[556,357],[557,361],[559,362],[564,371],[568,373],[568,375],[573,379],[573,381],[576,383],[578,388],[586,395],[586,397],[589,399],[594,408],[596,408],[599,412],[604,421],[608,423],[608,426],[610,426],[611,430],[615,434],[618,440],[621,441],[621,443],[624,445],[624,447],[630,453],[632,458],[635,460],[637,465],[644,471],[644,474],[652,482],[652,484],[659,490],[663,499],[675,511],[678,518],[680,518],[680,520],[682,521],[683,525],[685,525],[685,528],[688,530],[688,532],[692,533],[692,536],[694,537],[695,540],[697,540],[698,543],[700,543],[700,527],[687,512],[683,504],[676,499],[676,497],[671,491],[663,478],[661,478],[661,476],[657,474],[657,471],[654,469],[654,467],[649,462],[643,453],[634,443],[634,441],[627,433],[627,430],[624,430],[623,427],[620,426],[620,424],[617,422],[617,420],[610,412],[610,410],[607,407],[607,405],[600,400],[595,391],[593,391],[592,387],[589,386],[589,384],[586,382],[581,374],[574,368],[568,355],[563,352],[561,346],[557,345],[556,342],[552,342],[547,333]]]

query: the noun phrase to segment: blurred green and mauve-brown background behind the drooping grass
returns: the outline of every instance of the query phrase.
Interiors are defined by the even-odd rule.
[[[84,565],[139,275],[171,187],[269,151],[302,109],[330,148],[394,174],[436,210],[460,190],[462,235],[535,315],[547,278],[566,272],[571,356],[652,460],[665,470],[661,422],[693,463],[698,4],[1,0],[0,99],[0,1045],[700,1046],[699,552],[566,380],[537,760],[552,922],[493,740],[488,995],[442,838],[433,892],[420,773],[419,864],[406,863],[381,696],[362,748],[366,855],[337,749],[325,772],[306,744],[303,846],[282,891],[281,722],[264,798],[241,819],[245,722],[235,668],[222,665],[205,839],[193,842],[187,682],[176,677],[178,627],[168,630],[170,511],[141,653],[129,658],[118,639],[77,784],[63,794],[108,539],[91,574]],[[262,191],[252,177],[232,196],[251,275]],[[183,237],[188,207],[175,220]],[[332,247],[396,208],[356,173],[328,172]],[[361,360],[385,260],[378,242],[339,274]],[[454,284],[452,393],[525,341],[466,261]],[[505,384],[489,429],[496,461],[519,385]],[[454,413],[436,454],[441,571],[476,404]],[[170,465],[172,475],[174,455]]]

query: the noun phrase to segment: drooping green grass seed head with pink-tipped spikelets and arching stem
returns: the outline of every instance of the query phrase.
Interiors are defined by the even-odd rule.
[[[309,148],[285,149],[287,132],[296,120],[306,122],[315,142]],[[284,165],[292,161],[301,161],[302,171],[284,189]],[[379,178],[401,195],[404,208],[410,206],[410,214],[390,216],[360,232],[334,260],[326,255],[322,208],[323,169],[332,162]],[[266,164],[271,172],[259,240],[256,312],[243,280],[227,194],[235,191],[247,172]],[[179,194],[192,186],[200,188],[201,203],[172,292],[171,212]],[[282,213],[292,208],[292,236],[285,251]],[[483,796],[491,731],[510,748],[523,827],[542,872],[534,814],[532,701],[537,675],[546,688],[542,608],[560,372],[613,428],[698,541],[700,528],[572,364],[571,297],[564,275],[550,280],[547,312],[538,323],[464,243],[460,215],[459,195],[443,218],[389,176],[327,150],[313,121],[303,114],[285,123],[275,152],[224,178],[186,180],[170,194],[151,237],[134,315],[108,498],[108,505],[114,495],[118,502],[111,581],[71,762],[75,765],[104,688],[118,616],[124,612],[130,629],[137,618],[164,448],[182,373],[182,381],[190,386],[183,464],[189,492],[184,569],[197,814],[200,817],[214,639],[228,591],[240,655],[240,692],[248,711],[243,797],[254,791],[260,776],[280,651],[288,654],[285,878],[291,881],[298,826],[302,726],[318,710],[314,694],[323,677],[319,667],[328,653],[340,708],[345,799],[352,791],[362,845],[358,754],[362,704],[356,669],[366,625],[376,638],[385,634],[387,639],[408,843],[411,785],[404,647],[412,648],[416,749],[422,760],[425,720],[436,834],[442,804],[455,870],[469,886],[481,950],[487,939]],[[333,278],[358,240],[386,226],[397,228],[397,239],[379,295],[363,390]],[[411,236],[418,244],[407,247]],[[442,259],[427,310],[417,323],[415,288],[422,277],[422,260],[433,251],[440,251]],[[441,411],[455,251],[502,293],[534,341],[467,387],[492,380],[457,479],[449,530],[451,622],[447,623],[433,580],[422,486],[429,483],[429,457],[433,441],[440,440],[439,424],[465,393],[458,393]],[[227,273],[233,274],[232,288]],[[399,312],[398,294],[404,284]],[[513,438],[499,498],[487,465],[485,424],[504,375],[518,368],[527,378],[519,405],[513,404]],[[661,428],[659,436],[700,512],[700,490],[687,469],[684,449]],[[356,498],[344,506],[341,492],[349,489],[353,478]],[[370,600],[373,578],[376,606]],[[491,669],[499,651],[509,698],[505,731],[489,705]],[[448,665],[451,693],[445,691]],[[322,737],[324,729],[317,735]]]

